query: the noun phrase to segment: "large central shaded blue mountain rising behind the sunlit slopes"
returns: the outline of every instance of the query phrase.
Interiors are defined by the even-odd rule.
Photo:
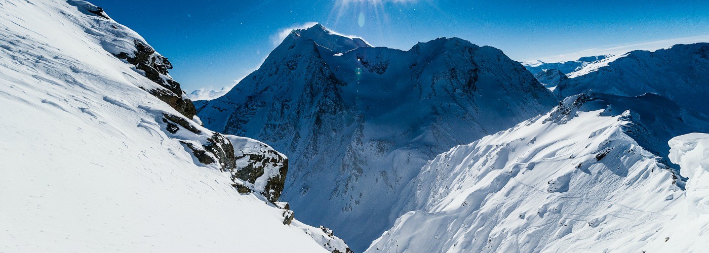
[[[198,115],[288,155],[281,198],[364,249],[409,208],[398,201],[413,196],[409,182],[428,159],[555,103],[493,47],[439,38],[394,50],[318,25],[294,30]]]

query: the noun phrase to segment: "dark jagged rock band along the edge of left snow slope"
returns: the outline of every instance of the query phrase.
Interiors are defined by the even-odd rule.
[[[101,7],[86,1],[69,0],[69,4],[89,16],[97,16],[91,35],[105,33],[97,37],[104,50],[118,59],[132,64],[133,70],[150,79],[156,86],[140,85],[140,88],[169,104],[182,116],[155,111],[162,115],[157,121],[164,131],[178,139],[197,162],[228,172],[239,193],[259,193],[269,202],[275,203],[284,188],[288,159],[271,147],[248,138],[222,135],[203,128],[195,121],[196,108],[180,88],[177,81],[169,76],[172,63],[155,51],[132,31],[113,22]],[[183,117],[184,116],[184,117]],[[199,122],[199,120],[197,120]],[[232,141],[238,142],[238,147]]]

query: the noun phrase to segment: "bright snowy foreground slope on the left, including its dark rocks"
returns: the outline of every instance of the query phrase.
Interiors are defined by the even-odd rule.
[[[0,252],[347,252],[277,201],[283,154],[201,126],[103,9],[1,1],[0,47]]]

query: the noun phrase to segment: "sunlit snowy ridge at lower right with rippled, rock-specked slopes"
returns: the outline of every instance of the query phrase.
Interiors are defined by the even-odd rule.
[[[709,126],[706,116],[673,103],[653,94],[581,94],[545,116],[454,147],[423,167],[415,211],[367,252],[706,249],[707,220],[687,233],[680,223],[688,220],[693,180],[701,179],[680,162],[690,176],[683,191],[676,169],[650,151],[669,150],[671,136]],[[670,154],[673,162],[677,156]]]

